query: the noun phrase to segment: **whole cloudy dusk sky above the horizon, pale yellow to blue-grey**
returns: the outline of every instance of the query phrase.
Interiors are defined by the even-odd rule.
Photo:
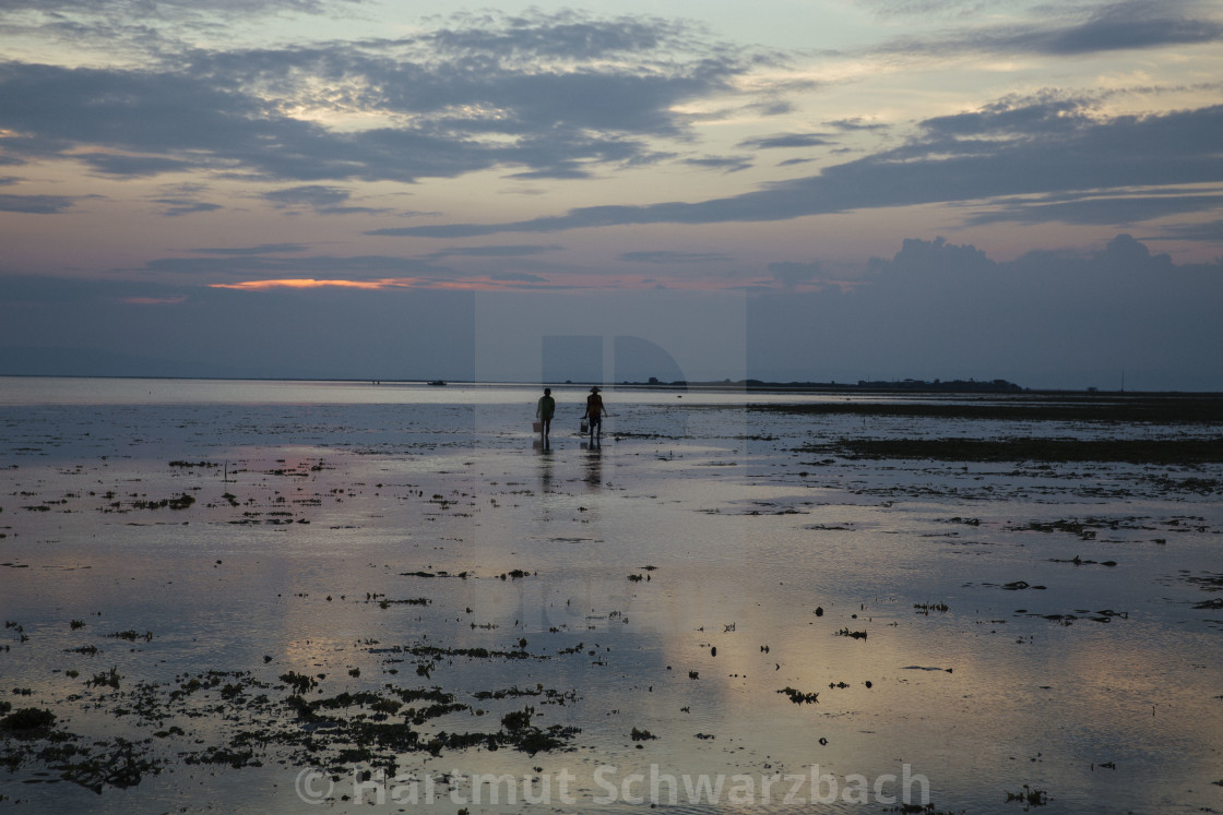
[[[2,0],[0,374],[1223,391],[1216,0]]]

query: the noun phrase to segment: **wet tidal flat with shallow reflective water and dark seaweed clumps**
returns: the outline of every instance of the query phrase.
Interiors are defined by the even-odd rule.
[[[0,385],[12,811],[1223,811],[1223,400]]]

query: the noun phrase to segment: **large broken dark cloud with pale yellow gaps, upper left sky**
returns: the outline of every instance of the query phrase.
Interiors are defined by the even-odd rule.
[[[580,178],[660,160],[647,139],[690,136],[678,109],[736,93],[758,56],[686,23],[572,12],[456,17],[325,46],[161,43],[144,67],[0,65],[0,130],[13,134],[10,161],[71,158],[120,177],[412,182],[508,167]],[[368,123],[323,123],[346,116]]]

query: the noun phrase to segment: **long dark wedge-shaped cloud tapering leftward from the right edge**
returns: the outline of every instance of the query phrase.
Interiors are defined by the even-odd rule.
[[[1223,132],[1223,105],[1110,119],[1088,112],[1081,100],[1047,94],[1010,98],[980,111],[926,120],[921,132],[900,147],[726,198],[586,206],[527,221],[396,227],[369,235],[473,237],[638,224],[777,221],[863,208],[1223,182],[1217,136]],[[1214,208],[1211,197],[1192,200],[1197,211]],[[1125,222],[1120,213],[1115,222]]]

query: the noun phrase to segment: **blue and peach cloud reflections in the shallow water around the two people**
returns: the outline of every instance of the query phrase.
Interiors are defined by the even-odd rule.
[[[589,450],[565,435],[536,452],[522,419],[534,393],[523,396],[489,397],[478,419],[471,406],[435,404],[202,406],[190,420],[157,406],[27,409],[35,422],[15,424],[21,436],[9,444],[46,455],[0,470],[0,494],[37,492],[0,516],[12,527],[0,560],[31,566],[0,573],[11,589],[0,596],[2,617],[33,634],[6,655],[13,684],[45,689],[56,700],[46,704],[65,709],[62,674],[48,679],[48,665],[84,677],[116,663],[131,684],[159,672],[253,668],[274,681],[294,670],[327,674],[329,695],[435,683],[462,703],[543,684],[577,698],[536,705],[541,723],[582,727],[577,743],[599,760],[665,747],[667,769],[751,769],[767,756],[783,772],[824,761],[872,775],[895,771],[899,755],[931,778],[937,804],[955,809],[988,811],[998,789],[1021,782],[1079,809],[1158,809],[1148,800],[1157,788],[1174,791],[1166,794],[1177,804],[1208,803],[1175,791],[1192,787],[1186,778],[1218,747],[1207,703],[1219,656],[1202,639],[1211,615],[1192,609],[1196,585],[1158,580],[1213,568],[1223,516],[1208,497],[1178,492],[1169,510],[1169,488],[1118,478],[1125,491],[1102,503],[1101,473],[1137,472],[1129,466],[1093,467],[1085,479],[1077,464],[959,470],[804,450],[841,436],[1065,434],[1065,424],[872,417],[863,426],[852,414],[746,413],[700,393],[618,393],[619,420],[641,436]],[[685,434],[671,433],[678,412],[689,414]],[[148,441],[133,445],[136,426]],[[166,466],[219,461],[219,450],[241,452],[229,458],[242,462],[243,472],[230,468],[237,481]],[[99,462],[106,453],[114,458]],[[312,470],[316,461],[325,467]],[[272,474],[280,469],[290,474]],[[135,491],[149,500],[192,491],[197,503],[102,514],[110,488],[127,502]],[[219,500],[226,489],[241,506]],[[1015,500],[1020,492],[1030,497]],[[21,508],[65,496],[49,511]],[[270,523],[281,507],[294,512],[291,527]],[[1121,510],[1132,522],[1102,522],[1095,540],[1027,525]],[[1172,525],[1169,513],[1203,521]],[[966,516],[974,523],[949,521]],[[1054,562],[1074,555],[1119,565]],[[510,569],[525,576],[501,580]],[[462,571],[472,576],[456,577]],[[1018,596],[988,585],[1019,579],[1049,588]],[[391,602],[380,607],[367,593]],[[406,602],[416,598],[430,604]],[[917,602],[949,611],[917,615]],[[1080,609],[1129,616],[1101,623]],[[105,616],[88,616],[98,610]],[[1044,618],[1053,613],[1079,619]],[[88,624],[71,632],[70,618]],[[838,637],[841,628],[868,638]],[[121,629],[154,639],[130,651],[105,638]],[[532,659],[393,650],[509,651],[520,639]],[[67,652],[89,641],[106,651],[105,665]],[[274,657],[267,666],[264,654]],[[415,673],[426,661],[435,662],[429,679]],[[795,705],[778,693],[786,687],[819,693],[818,703]],[[462,712],[438,726],[495,729],[500,714],[525,704],[534,703],[489,704],[493,716],[460,725]],[[630,727],[659,734],[658,744],[635,751]],[[1101,772],[1110,761],[1134,783]],[[1040,775],[1016,778],[1018,762]]]

